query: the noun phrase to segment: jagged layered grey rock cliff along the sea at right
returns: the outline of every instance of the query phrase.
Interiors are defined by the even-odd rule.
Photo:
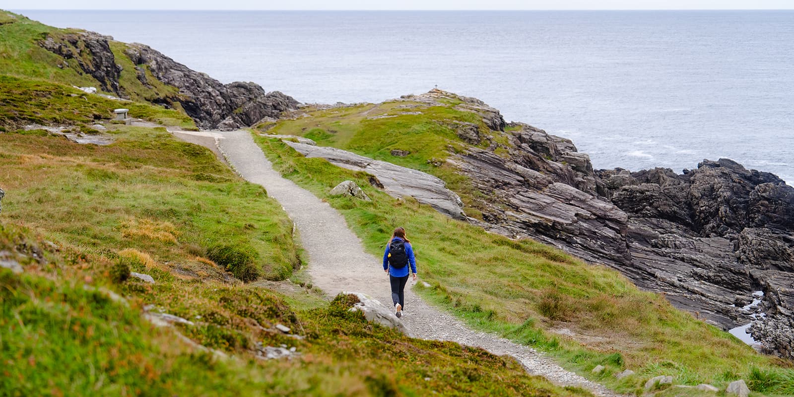
[[[464,100],[484,121],[501,119],[470,98],[420,97],[444,96]],[[683,174],[595,171],[565,138],[487,124],[491,135],[461,125],[458,135],[472,145],[448,160],[484,193],[483,219],[472,222],[607,264],[725,330],[754,322],[765,348],[794,358],[794,188],[727,159]],[[507,144],[494,139],[500,132]],[[764,292],[763,305],[743,309],[754,291]]]

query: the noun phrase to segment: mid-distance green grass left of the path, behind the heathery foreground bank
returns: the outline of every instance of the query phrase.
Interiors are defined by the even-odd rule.
[[[163,268],[202,268],[195,257],[221,244],[251,247],[269,279],[299,267],[287,216],[212,152],[163,129],[110,133],[116,143],[100,147],[0,134],[4,218],[87,252],[137,249]]]

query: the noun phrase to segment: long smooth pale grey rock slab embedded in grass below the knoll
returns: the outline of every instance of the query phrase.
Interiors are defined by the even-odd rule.
[[[400,167],[386,161],[372,160],[338,148],[306,145],[298,142],[285,142],[303,156],[318,157],[331,164],[353,171],[363,171],[375,175],[384,190],[391,196],[403,198],[411,196],[422,204],[432,206],[441,214],[452,218],[465,219],[463,202],[453,191],[446,188],[443,180],[411,168]]]

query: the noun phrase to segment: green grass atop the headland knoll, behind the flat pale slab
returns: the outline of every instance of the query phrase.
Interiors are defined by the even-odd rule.
[[[376,160],[385,160],[403,167],[418,169],[444,179],[447,186],[461,195],[466,214],[481,218],[480,200],[483,193],[455,168],[445,162],[450,152],[461,150],[462,141],[453,128],[455,121],[479,125],[480,135],[494,136],[506,141],[500,131],[491,131],[479,115],[459,110],[460,101],[447,100],[448,105],[420,102],[384,102],[332,108],[308,109],[309,118],[279,121],[276,125],[261,126],[267,133],[300,135],[317,141],[321,146],[333,146]],[[411,106],[411,107],[400,107]],[[418,113],[418,114],[416,114]],[[390,116],[388,118],[377,118]],[[269,127],[269,128],[268,128]],[[488,141],[480,144],[485,148]],[[391,156],[392,150],[410,152],[407,156]]]

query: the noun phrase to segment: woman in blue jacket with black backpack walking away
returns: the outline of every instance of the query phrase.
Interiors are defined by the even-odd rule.
[[[389,282],[391,283],[391,300],[395,304],[395,315],[400,318],[403,317],[403,308],[405,307],[405,283],[408,282],[409,268],[410,273],[414,275],[416,280],[416,259],[414,258],[414,249],[410,246],[410,240],[405,237],[405,229],[399,227],[395,229],[395,233],[391,234],[389,244],[386,245],[386,252],[384,252],[384,272],[389,275]]]

